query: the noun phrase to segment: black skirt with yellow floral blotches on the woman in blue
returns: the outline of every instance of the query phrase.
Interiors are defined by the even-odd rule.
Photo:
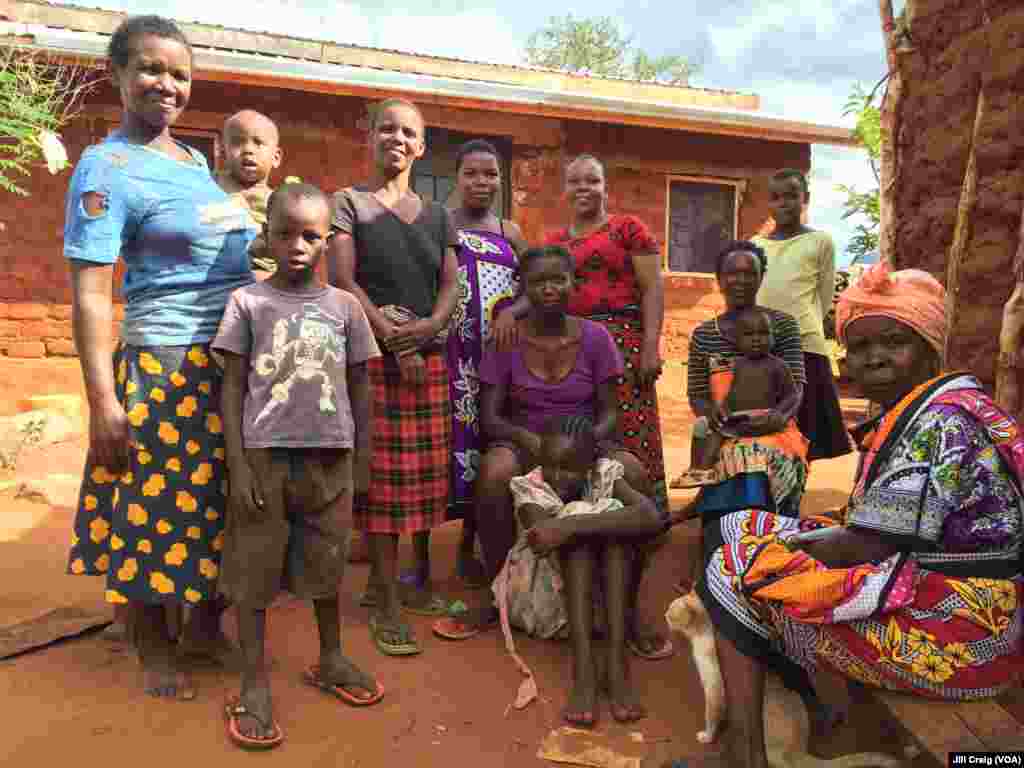
[[[220,368],[204,344],[120,345],[114,370],[130,464],[117,476],[87,459],[68,572],[105,575],[112,603],[209,600],[226,493]]]

